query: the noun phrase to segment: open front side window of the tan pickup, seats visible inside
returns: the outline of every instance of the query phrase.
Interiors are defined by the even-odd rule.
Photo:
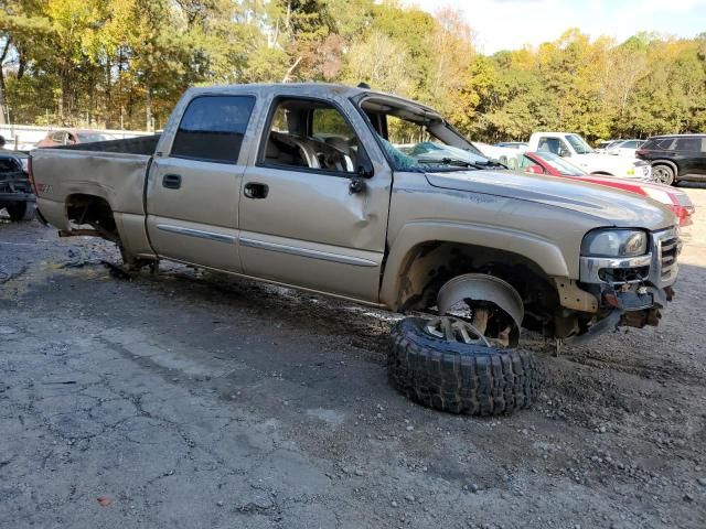
[[[355,173],[359,139],[343,115],[325,101],[275,101],[259,162]]]

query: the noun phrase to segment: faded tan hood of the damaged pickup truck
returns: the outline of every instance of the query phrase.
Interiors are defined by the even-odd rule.
[[[563,176],[478,170],[427,173],[426,176],[435,187],[561,207],[589,215],[606,226],[656,230],[676,224],[674,214],[654,201]]]

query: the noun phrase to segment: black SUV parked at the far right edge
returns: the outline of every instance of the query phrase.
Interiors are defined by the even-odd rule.
[[[652,175],[663,184],[706,180],[706,134],[655,136],[635,155],[652,164]]]

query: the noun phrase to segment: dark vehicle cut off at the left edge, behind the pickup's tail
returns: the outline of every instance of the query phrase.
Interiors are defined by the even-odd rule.
[[[9,151],[0,150],[0,209],[14,222],[34,218],[34,194],[22,161]]]

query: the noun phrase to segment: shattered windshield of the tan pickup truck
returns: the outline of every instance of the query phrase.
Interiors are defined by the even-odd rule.
[[[438,115],[413,104],[365,100],[361,109],[396,171],[432,172],[501,166],[483,156]]]

